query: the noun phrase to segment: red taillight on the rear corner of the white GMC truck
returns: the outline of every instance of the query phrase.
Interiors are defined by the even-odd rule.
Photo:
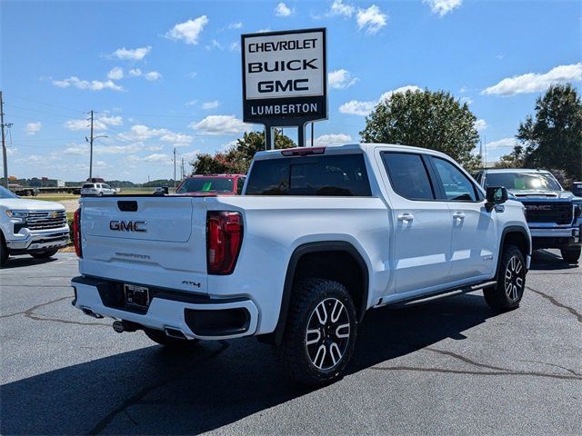
[[[209,212],[206,263],[209,274],[230,274],[243,243],[243,217],[237,212]]]

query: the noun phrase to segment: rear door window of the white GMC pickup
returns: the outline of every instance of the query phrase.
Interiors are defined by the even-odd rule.
[[[388,178],[397,194],[408,200],[434,200],[435,193],[430,184],[425,163],[420,154],[382,154]]]

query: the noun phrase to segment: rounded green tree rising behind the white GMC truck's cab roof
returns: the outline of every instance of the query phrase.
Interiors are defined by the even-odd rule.
[[[360,135],[365,143],[406,144],[438,150],[467,169],[480,166],[473,154],[477,117],[446,91],[392,94],[366,116]]]

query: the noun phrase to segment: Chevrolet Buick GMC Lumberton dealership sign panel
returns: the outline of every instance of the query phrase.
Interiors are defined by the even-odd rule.
[[[241,36],[243,119],[266,126],[327,118],[326,29]]]

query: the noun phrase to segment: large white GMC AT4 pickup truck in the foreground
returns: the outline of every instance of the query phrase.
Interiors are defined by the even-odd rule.
[[[172,347],[256,335],[297,381],[333,381],[368,309],[483,289],[522,298],[521,203],[447,155],[386,144],[256,154],[243,195],[83,198],[74,305]]]

